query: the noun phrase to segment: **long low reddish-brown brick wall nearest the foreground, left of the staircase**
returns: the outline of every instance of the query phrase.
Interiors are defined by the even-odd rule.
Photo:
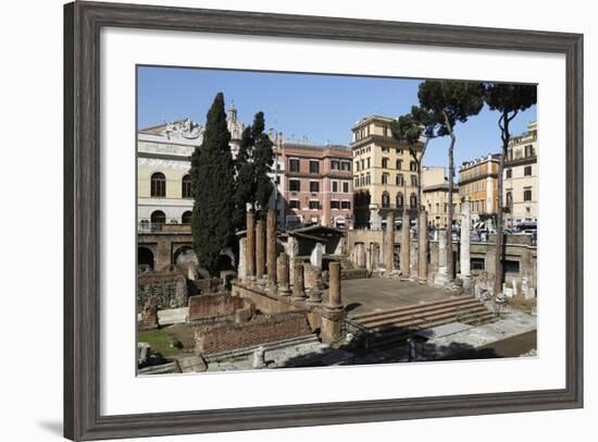
[[[311,334],[306,312],[263,316],[245,323],[223,323],[196,332],[196,352],[212,354]]]

